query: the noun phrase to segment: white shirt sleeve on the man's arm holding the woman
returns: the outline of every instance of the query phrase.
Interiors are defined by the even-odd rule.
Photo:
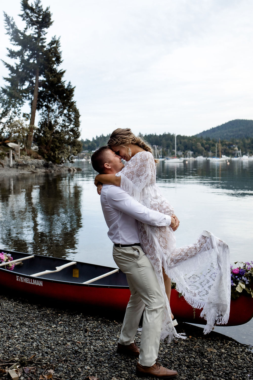
[[[111,186],[106,193],[106,199],[109,206],[130,215],[142,223],[150,224],[151,226],[169,226],[171,224],[170,215],[148,209],[148,207],[135,201],[121,187]]]

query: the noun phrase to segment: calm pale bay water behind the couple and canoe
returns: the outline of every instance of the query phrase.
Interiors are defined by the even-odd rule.
[[[0,248],[115,267],[93,185],[95,172],[1,180]],[[180,220],[177,246],[209,230],[230,247],[231,263],[253,260],[253,161],[160,163],[157,182]],[[253,320],[215,331],[253,345]]]

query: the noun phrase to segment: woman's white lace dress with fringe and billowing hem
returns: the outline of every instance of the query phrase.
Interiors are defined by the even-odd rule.
[[[149,152],[134,155],[116,174],[121,176],[121,187],[149,209],[172,215],[173,207],[156,185],[156,165]],[[154,266],[165,299],[161,339],[183,337],[173,327],[171,310],[165,293],[162,266],[176,289],[195,308],[202,308],[201,317],[207,321],[204,333],[214,324],[228,322],[230,308],[229,248],[225,242],[208,231],[198,237],[195,244],[176,248],[171,227],[154,227],[138,222],[141,246]]]

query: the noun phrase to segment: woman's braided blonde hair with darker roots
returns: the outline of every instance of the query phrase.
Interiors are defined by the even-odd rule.
[[[153,149],[148,145],[146,141],[141,139],[139,136],[135,136],[134,133],[130,130],[130,128],[117,128],[112,132],[107,145],[108,146],[129,146],[130,144],[136,144],[146,152],[153,153]],[[155,162],[159,162],[154,158]]]

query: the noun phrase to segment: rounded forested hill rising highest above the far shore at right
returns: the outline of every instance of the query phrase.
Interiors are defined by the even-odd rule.
[[[218,127],[211,128],[196,135],[197,137],[210,137],[211,139],[230,140],[253,137],[253,120],[231,120]]]

